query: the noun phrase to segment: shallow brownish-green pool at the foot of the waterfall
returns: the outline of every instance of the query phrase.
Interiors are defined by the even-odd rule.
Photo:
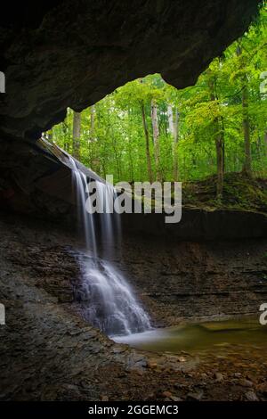
[[[221,352],[222,349],[227,352],[227,349],[237,349],[240,346],[243,349],[266,349],[267,326],[260,325],[257,319],[245,318],[154,329],[119,336],[114,340],[155,352]]]

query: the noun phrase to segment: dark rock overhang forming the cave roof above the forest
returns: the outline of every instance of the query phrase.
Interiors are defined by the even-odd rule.
[[[125,82],[159,72],[182,88],[241,36],[257,0],[41,1],[4,13],[1,137],[35,140],[67,107],[82,111]]]

